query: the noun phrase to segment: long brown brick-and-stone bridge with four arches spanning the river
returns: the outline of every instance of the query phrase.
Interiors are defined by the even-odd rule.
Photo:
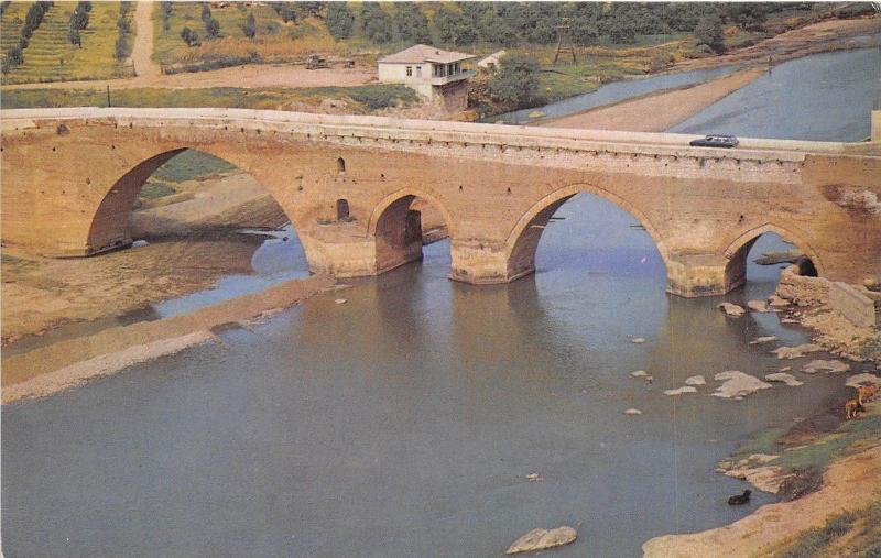
[[[726,293],[774,231],[820,276],[881,274],[881,144],[694,136],[240,109],[3,110],[2,240],[81,256],[131,243],[144,180],[185,149],[250,173],[279,201],[313,271],[374,275],[421,256],[421,198],[449,229],[450,277],[534,271],[544,226],[588,192],[654,239],[668,289]],[[344,210],[345,208],[345,210]],[[348,218],[342,215],[348,212]]]

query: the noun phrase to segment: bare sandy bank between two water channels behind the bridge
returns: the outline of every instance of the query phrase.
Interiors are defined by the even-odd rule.
[[[762,74],[764,74],[764,68],[744,69],[704,84],[599,107],[578,114],[545,120],[539,125],[663,132],[750,84]]]

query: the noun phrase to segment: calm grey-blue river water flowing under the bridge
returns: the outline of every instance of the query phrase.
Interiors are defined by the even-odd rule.
[[[831,66],[877,95],[871,73],[847,69],[867,53],[881,67],[878,50]],[[868,111],[839,111],[840,75],[809,72],[809,61],[829,67],[827,56],[796,61],[807,66],[791,87],[829,107],[807,123],[853,134],[823,139],[858,139]],[[753,105],[689,125],[742,134],[765,118]],[[653,536],[773,501],[729,507],[744,485],[714,473],[716,462],[750,433],[842,401],[844,380],[800,374],[802,387],[708,396],[717,372],[802,362],[750,339],[794,344],[805,332],[775,315],[726,318],[720,298],[665,294],[651,238],[608,201],[577,196],[557,216],[537,273],[511,285],[448,281],[449,245],[437,242],[421,264],[227,330],[224,343],[4,406],[4,551],[499,556],[534,527],[567,524],[579,538],[557,556],[627,557]],[[762,237],[751,259],[780,245]],[[747,287],[725,298],[766,296],[779,271],[750,264]],[[637,369],[654,382],[631,378]],[[710,389],[662,393],[694,374]]]

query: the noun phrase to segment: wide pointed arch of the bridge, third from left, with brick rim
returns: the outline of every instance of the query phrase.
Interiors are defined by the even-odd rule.
[[[544,227],[563,204],[581,193],[592,194],[611,201],[637,219],[654,241],[655,248],[661,254],[661,260],[664,262],[664,266],[670,271],[668,254],[664,239],[645,214],[624,198],[609,190],[590,184],[574,184],[545,195],[535,201],[529,210],[518,219],[518,222],[514,225],[514,228],[511,230],[505,241],[509,281],[522,277],[535,271],[535,252],[539,249],[539,242],[544,232]]]

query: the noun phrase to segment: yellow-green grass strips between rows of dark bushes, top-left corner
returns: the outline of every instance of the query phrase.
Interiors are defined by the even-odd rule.
[[[3,50],[18,41],[21,24],[32,2],[13,2],[2,18]],[[76,2],[55,2],[24,50],[24,64],[3,76],[4,84],[108,79],[122,76],[122,64],[113,56],[118,37],[119,2],[93,2],[89,25],[80,32],[83,47],[70,44],[67,31]],[[7,30],[15,30],[7,36]]]

